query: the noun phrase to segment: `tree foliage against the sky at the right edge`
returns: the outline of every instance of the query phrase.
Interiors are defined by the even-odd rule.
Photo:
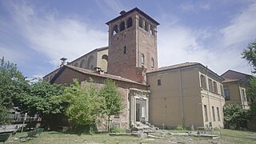
[[[256,72],[256,40],[250,42],[247,49],[242,51],[242,58],[254,66],[254,73]]]

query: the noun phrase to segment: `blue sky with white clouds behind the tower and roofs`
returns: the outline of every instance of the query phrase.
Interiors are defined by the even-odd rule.
[[[217,74],[250,74],[242,50],[256,38],[256,1],[0,0],[0,57],[41,77],[108,45],[106,22],[138,7],[157,20],[158,66],[201,62]]]

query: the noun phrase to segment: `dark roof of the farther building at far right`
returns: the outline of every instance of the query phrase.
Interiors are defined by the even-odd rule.
[[[250,83],[250,78],[252,77],[252,75],[244,74],[234,70],[227,70],[224,74],[221,75],[221,77],[225,79],[233,79],[233,80],[238,79],[238,80],[242,80],[242,82]]]

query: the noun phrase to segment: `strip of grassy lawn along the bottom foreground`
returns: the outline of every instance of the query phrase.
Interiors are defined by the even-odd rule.
[[[187,132],[183,130],[164,130],[165,132]],[[161,130],[155,134],[161,134]],[[256,132],[240,131],[240,130],[221,130],[221,138],[195,138],[192,136],[171,136],[170,134],[162,135],[160,139],[154,138],[138,138],[134,136],[110,136],[106,133],[98,134],[69,134],[58,131],[44,131],[40,136],[30,141],[23,143],[256,143]],[[214,133],[219,133],[219,130],[214,130]],[[6,144],[20,143],[19,136],[26,135],[17,133],[15,136],[10,136]]]

